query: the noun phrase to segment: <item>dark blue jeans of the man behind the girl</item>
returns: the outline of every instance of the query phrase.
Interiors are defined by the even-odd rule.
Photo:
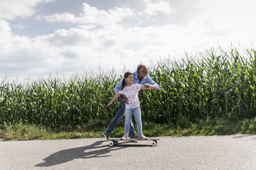
[[[115,118],[113,118],[113,120],[110,122],[110,124],[108,125],[108,128],[105,131],[108,134],[111,134],[111,132],[114,131],[116,125],[118,125],[119,122],[122,120],[122,118],[124,118],[125,103],[120,99],[120,97],[118,98],[118,101],[119,101],[119,108],[118,108],[117,114],[116,114]],[[135,131],[134,131],[132,122],[130,124],[129,135],[130,135],[130,137],[135,135]]]

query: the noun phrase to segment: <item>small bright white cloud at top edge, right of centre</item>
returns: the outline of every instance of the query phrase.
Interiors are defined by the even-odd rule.
[[[171,13],[171,8],[168,3],[160,1],[159,3],[149,3],[146,4],[145,14],[147,15],[156,15],[157,12],[159,13]]]

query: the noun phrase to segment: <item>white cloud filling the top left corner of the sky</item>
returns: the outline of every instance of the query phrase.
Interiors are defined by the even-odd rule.
[[[0,19],[14,20],[17,17],[27,18],[35,13],[35,6],[53,0],[1,0]]]

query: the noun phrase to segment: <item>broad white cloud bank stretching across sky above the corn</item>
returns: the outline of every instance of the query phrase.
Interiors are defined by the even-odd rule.
[[[172,18],[173,15],[186,13],[179,10],[189,4],[197,6],[198,11],[191,11],[194,7],[188,9],[191,15],[193,12],[196,15],[183,24],[175,24],[177,18]],[[133,71],[140,62],[156,62],[159,57],[163,59],[169,54],[172,57],[173,52],[195,52],[218,45],[229,47],[238,39],[242,45],[250,46],[256,29],[253,6],[255,2],[249,0],[227,4],[184,0],[147,2],[142,11],[131,7],[106,11],[83,3],[79,16],[56,13],[40,17],[53,23],[76,23],[77,27],[36,38],[15,36],[8,22],[0,20],[0,77],[47,75],[50,71],[69,76],[73,71],[98,71],[99,66],[105,70],[114,67],[116,71],[126,66]],[[165,24],[157,25],[156,21]]]

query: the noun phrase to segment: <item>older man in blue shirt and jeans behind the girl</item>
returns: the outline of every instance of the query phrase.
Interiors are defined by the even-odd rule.
[[[154,85],[156,87],[159,87],[159,85],[148,76],[148,69],[144,64],[139,64],[139,66],[137,67],[137,71],[135,71],[133,73],[133,76],[134,76],[133,83],[138,83],[140,85]],[[115,94],[117,94],[119,92],[123,79],[124,78],[122,78],[119,81],[119,83],[116,85]],[[125,103],[129,103],[128,99],[122,95],[118,98],[118,101],[119,101],[119,108],[118,108],[117,114],[116,114],[115,118],[113,118],[111,123],[109,124],[106,131],[103,133],[103,135],[107,139],[110,138],[110,134],[111,134],[111,132],[113,132],[116,125],[118,125],[119,122],[122,120],[122,118],[124,118]],[[129,136],[130,136],[130,138],[138,138],[138,136],[136,135],[136,133],[134,131],[132,122],[130,124]]]

